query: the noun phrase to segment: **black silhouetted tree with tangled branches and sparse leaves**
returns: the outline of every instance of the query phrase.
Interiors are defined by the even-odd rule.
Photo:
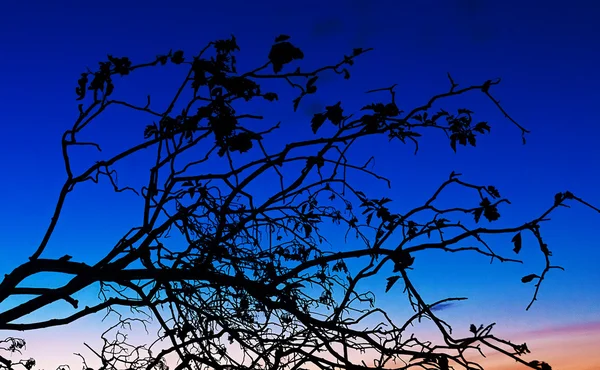
[[[248,113],[249,107],[287,104],[271,88],[283,82],[296,93],[291,102],[295,111],[307,95],[317,93],[319,76],[335,72],[349,79],[348,68],[369,49],[354,49],[337,64],[291,72],[288,64],[298,63],[304,53],[281,35],[266,63],[243,73],[236,67],[238,50],[232,36],[209,43],[193,57],[171,51],[133,64],[127,57],[109,55],[96,71],[81,75],[76,88],[79,116],[62,137],[67,180],[51,223],[29,261],[0,284],[0,302],[15,295],[32,298],[0,312],[0,329],[48,328],[103,310],[116,313],[117,323],[103,334],[102,348],[90,347],[103,370],[165,369],[171,357],[176,369],[482,369],[477,361],[483,351],[502,353],[524,368],[551,369],[542,361],[525,361],[527,345],[495,336],[494,324],[471,325],[469,337],[453,335],[438,311],[465,298],[427,302],[410,278],[411,266],[427,250],[476,252],[492,261],[520,262],[521,249],[533,247],[522,245],[522,235],[531,233],[545,265],[522,278],[534,283],[529,309],[546,275],[561,269],[551,263],[542,237],[548,215],[574,202],[600,210],[566,191],[530,221],[494,227],[501,206],[510,202],[496,187],[470,183],[453,172],[424,204],[400,211],[392,199],[371,194],[374,182],[391,186],[390,181],[372,169],[371,160],[357,163],[350,154],[366,138],[414,144],[416,152],[422,136],[435,132],[447,136],[453,151],[475,146],[479,135],[490,132],[488,123],[474,121],[469,109],[433,108],[470,92],[489,98],[521,131],[524,142],[528,131],[491,93],[500,80],[460,88],[448,75],[448,91],[408,111],[396,104],[394,86],[369,91],[383,100],[354,113],[332,99],[307,122],[311,136],[298,139],[280,134],[280,123],[265,124],[262,116]],[[143,106],[113,98],[116,85],[126,83],[117,82],[118,76],[166,64],[187,71],[166,109],[156,110],[150,96]],[[100,143],[80,137],[115,106],[146,114],[154,122],[140,132],[138,143],[77,172],[73,147],[100,150]],[[149,151],[154,157],[147,183],[120,187],[114,167]],[[93,265],[68,255],[44,258],[69,193],[82,183],[105,179],[116,192],[134,192],[143,199],[139,224]],[[472,199],[439,205],[438,197],[451,186],[472,192]],[[185,242],[171,242],[170,233]],[[486,238],[491,235],[512,238],[514,255],[490,248]],[[345,244],[331,248],[327,241],[332,238]],[[473,245],[461,246],[467,240]],[[52,289],[21,286],[41,272],[70,280]],[[403,323],[392,319],[376,305],[374,294],[363,289],[366,281],[404,294],[412,317]],[[102,299],[79,307],[72,296],[94,284],[99,284]],[[71,304],[73,312],[44,321],[29,316],[60,300]],[[437,327],[439,343],[407,334],[410,325],[423,319]],[[124,326],[149,320],[158,323],[163,341],[136,346],[118,334]],[[373,320],[379,324],[370,325]],[[10,353],[25,346],[17,338],[3,343],[2,349]],[[357,360],[361,355],[364,360]],[[6,369],[35,366],[33,359],[16,362],[6,356],[0,363]]]

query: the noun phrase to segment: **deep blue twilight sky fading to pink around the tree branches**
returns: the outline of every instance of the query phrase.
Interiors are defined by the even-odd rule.
[[[301,106],[298,114],[283,108],[270,111],[286,120],[286,130],[291,130],[287,132],[308,132],[315,107],[341,100],[358,110],[373,99],[363,94],[366,90],[397,83],[400,108],[406,109],[445,92],[447,72],[461,86],[501,77],[493,93],[531,131],[527,145],[488,100],[477,94],[453,100],[452,107],[466,106],[490,123],[491,134],[482,137],[477,148],[459,148],[455,154],[443,138],[425,138],[416,156],[412,148],[369,148],[380,155],[396,150],[377,166],[390,173],[391,195],[402,205],[426,199],[453,170],[466,180],[494,184],[513,203],[501,209],[503,217],[515,222],[540,214],[558,191],[570,190],[600,204],[600,7],[592,1],[166,4],[35,0],[0,5],[0,272],[26,260],[50,220],[65,179],[60,135],[77,116],[74,89],[79,74],[95,68],[106,54],[128,56],[134,63],[170,49],[193,54],[208,41],[230,34],[241,47],[240,63],[250,66],[266,60],[279,34],[292,36],[305,52],[306,65],[336,62],[355,47],[374,48],[357,60],[349,81],[327,79],[326,94]],[[170,71],[156,80],[132,77],[119,84],[138,102],[149,92],[159,101],[171,91],[175,72]],[[108,115],[91,131],[105,143],[106,153],[139,137],[144,127],[136,117],[120,113]],[[140,175],[136,160],[123,168],[121,181],[135,181]],[[137,217],[139,203],[106,186],[83,186],[70,197],[48,256],[69,253],[77,260],[93,261],[129,229],[131,217]],[[566,271],[548,277],[527,312],[532,286],[519,280],[541,268],[535,251],[523,251],[529,262],[524,266],[490,266],[476,256],[431,256],[415,266],[416,282],[432,300],[448,295],[470,298],[443,312],[450,321],[464,323],[465,332],[471,322],[495,321],[498,333],[527,341],[540,358],[547,355],[555,369],[597,369],[600,354],[589,349],[594,340],[600,342],[600,248],[595,234],[600,215],[575,205],[557,212],[548,225],[543,231],[554,261]],[[510,239],[498,240],[495,248],[509,251]],[[383,280],[381,285],[382,293]],[[93,292],[85,294],[93,297]],[[400,291],[395,294],[381,295],[379,302],[393,310]],[[38,364],[46,370],[64,362],[76,364],[70,348],[102,328],[94,320],[74,324],[69,335],[61,335],[63,329],[28,333],[27,353],[42,358]],[[488,360],[493,370],[518,369],[494,356]]]

